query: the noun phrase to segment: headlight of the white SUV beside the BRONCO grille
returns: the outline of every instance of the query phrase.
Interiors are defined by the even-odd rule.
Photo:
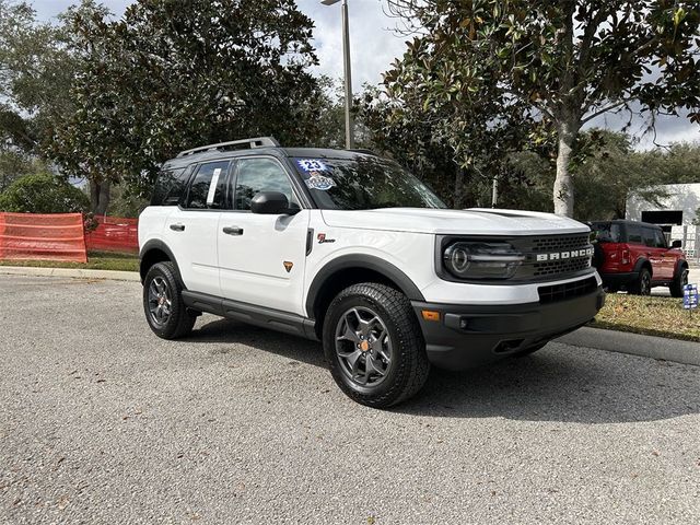
[[[459,279],[510,279],[524,260],[508,243],[459,242],[443,253],[445,268]]]

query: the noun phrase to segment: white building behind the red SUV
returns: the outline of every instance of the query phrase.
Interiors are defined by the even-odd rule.
[[[700,184],[670,184],[663,186],[668,196],[658,205],[631,196],[627,199],[626,218],[651,222],[663,228],[669,241],[681,241],[689,260],[700,262],[700,226],[693,225],[700,217]]]

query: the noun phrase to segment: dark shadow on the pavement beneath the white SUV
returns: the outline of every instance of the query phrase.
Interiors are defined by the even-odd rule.
[[[246,345],[326,369],[319,342],[233,320],[205,323],[185,340]],[[699,377],[693,366],[550,343],[526,358],[464,372],[433,368],[423,389],[390,411],[581,423],[656,421],[700,413]]]

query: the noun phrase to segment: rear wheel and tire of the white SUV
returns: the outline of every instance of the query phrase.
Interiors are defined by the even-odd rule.
[[[188,335],[197,316],[183,303],[183,285],[172,262],[153,265],[143,280],[143,313],[158,337],[177,339]]]

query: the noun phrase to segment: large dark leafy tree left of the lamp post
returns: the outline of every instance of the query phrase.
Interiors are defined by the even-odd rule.
[[[140,0],[116,22],[77,11],[67,21],[84,72],[52,153],[70,173],[147,195],[180,150],[319,135],[313,23],[293,0]]]

